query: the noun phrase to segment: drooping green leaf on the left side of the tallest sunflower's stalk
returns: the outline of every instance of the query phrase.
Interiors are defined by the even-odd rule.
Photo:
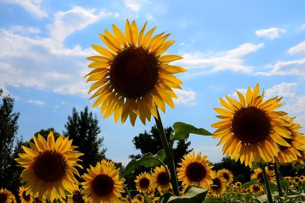
[[[161,162],[158,159],[160,159],[163,162],[165,160],[165,158],[166,158],[166,156],[164,153],[164,149],[161,149],[160,151],[158,151],[158,153],[156,155],[147,153],[140,159],[133,159],[132,161],[130,161],[128,163],[128,165],[126,166],[123,173],[120,174],[120,178],[127,176],[128,174],[133,172],[139,166],[144,166],[146,168],[155,167],[155,166],[161,164]]]

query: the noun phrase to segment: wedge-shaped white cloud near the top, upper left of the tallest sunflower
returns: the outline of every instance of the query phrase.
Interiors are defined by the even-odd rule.
[[[87,10],[82,7],[74,7],[66,12],[58,11],[54,15],[53,24],[48,26],[49,34],[52,39],[62,42],[73,32],[82,30],[109,15],[111,13],[104,10],[96,13],[96,9]]]

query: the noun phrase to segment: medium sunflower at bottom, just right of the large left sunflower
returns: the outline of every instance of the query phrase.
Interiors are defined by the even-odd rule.
[[[88,173],[82,175],[84,192],[92,202],[116,202],[124,192],[123,182],[119,179],[119,168],[107,165],[104,161],[98,162],[95,167],[90,166]]]

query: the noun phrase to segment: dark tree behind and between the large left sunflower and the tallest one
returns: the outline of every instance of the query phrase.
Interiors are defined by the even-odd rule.
[[[64,135],[73,139],[72,144],[78,146],[77,150],[84,154],[84,156],[80,157],[84,167],[83,170],[80,170],[81,172],[86,172],[90,164],[95,165],[96,162],[105,158],[104,137],[97,137],[101,132],[98,120],[96,115],[93,117],[92,112],[88,111],[87,106],[80,113],[76,111],[76,108],[73,108],[72,115],[68,116],[68,122],[65,127]]]

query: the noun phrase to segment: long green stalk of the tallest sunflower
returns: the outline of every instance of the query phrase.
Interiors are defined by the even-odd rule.
[[[164,152],[166,155],[167,165],[168,165],[168,169],[170,172],[170,182],[172,185],[172,190],[173,190],[174,195],[179,196],[178,182],[177,182],[177,176],[176,176],[173,156],[171,154],[171,150],[168,145],[168,141],[167,141],[167,138],[166,138],[166,135],[164,132],[164,128],[163,128],[163,124],[161,121],[161,117],[160,117],[158,108],[156,107],[156,109],[157,109],[158,119],[155,118],[155,121],[156,121],[157,128],[159,130],[160,138],[161,138]]]

